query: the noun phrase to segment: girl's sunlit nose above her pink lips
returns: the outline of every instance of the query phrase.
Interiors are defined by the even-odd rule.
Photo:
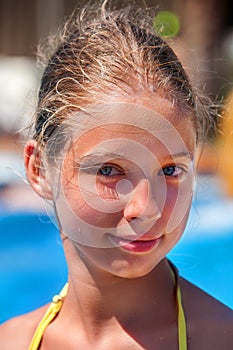
[[[136,218],[156,221],[161,217],[161,211],[147,179],[141,179],[134,188],[132,197],[124,208],[124,217],[128,222]]]

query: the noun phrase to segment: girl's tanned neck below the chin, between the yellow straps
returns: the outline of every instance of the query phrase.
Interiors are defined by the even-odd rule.
[[[96,331],[116,321],[127,328],[161,327],[176,320],[174,282],[166,259],[146,276],[126,279],[88,268],[69,241],[67,245],[72,250],[67,254],[70,280],[62,311],[69,308],[70,317],[85,328]]]

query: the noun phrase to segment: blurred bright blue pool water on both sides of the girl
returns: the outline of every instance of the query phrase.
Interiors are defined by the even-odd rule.
[[[186,231],[168,257],[180,274],[233,308],[233,201],[199,192]],[[0,323],[60,291],[67,267],[45,213],[0,214]]]

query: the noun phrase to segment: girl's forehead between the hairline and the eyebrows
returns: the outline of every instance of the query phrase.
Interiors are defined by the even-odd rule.
[[[150,150],[164,147],[170,153],[193,152],[195,130],[190,116],[179,113],[169,101],[157,98],[150,106],[112,102],[85,110],[74,130],[73,144],[79,153],[91,148],[108,151],[118,148],[122,152],[136,143]],[[134,143],[133,143],[134,141]]]

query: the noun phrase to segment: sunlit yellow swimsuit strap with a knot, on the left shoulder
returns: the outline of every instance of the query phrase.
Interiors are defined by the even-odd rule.
[[[53,297],[52,303],[50,304],[48,310],[46,311],[44,317],[40,321],[36,332],[32,338],[31,344],[28,350],[38,350],[43,334],[47,326],[52,322],[52,320],[57,316],[58,312],[61,310],[63,298],[66,296],[68,290],[68,283],[65,284],[60,294]]]

